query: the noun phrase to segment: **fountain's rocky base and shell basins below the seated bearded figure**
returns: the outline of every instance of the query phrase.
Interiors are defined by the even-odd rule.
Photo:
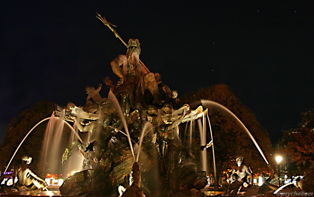
[[[95,103],[91,102],[86,104],[89,107],[94,106],[95,110],[88,108],[87,112],[86,105],[80,110],[72,103],[66,108],[64,119],[75,122],[76,125],[84,123],[83,128],[98,123],[102,128],[95,129],[91,134],[93,137],[100,133],[101,137],[96,139],[97,145],[93,144],[89,150],[88,147],[94,141],[79,145],[85,153],[90,153],[84,155],[86,163],[93,163],[94,166],[90,168],[85,166],[83,171],[65,179],[60,187],[61,194],[109,196],[116,195],[117,188],[128,194],[133,190],[128,188],[135,187],[129,178],[130,174],[135,173],[134,169],[141,171],[140,186],[136,181],[134,184],[136,182],[137,191],[140,190],[144,194],[201,194],[200,189],[207,184],[206,172],[197,170],[197,166],[191,163],[193,158],[181,145],[176,128],[180,123],[191,121],[191,117],[201,118],[207,110],[198,107],[192,111],[188,105],[183,105],[178,110],[167,104],[159,107],[154,104],[147,105],[146,121],[142,123],[140,116],[143,115],[143,108],[130,110],[127,121],[124,121],[125,114],[117,100],[113,92],[109,92],[108,98],[104,99],[105,103],[101,103],[100,106],[95,106]],[[78,113],[79,111],[81,112]],[[91,111],[93,113],[90,113]],[[55,116],[59,114],[61,116],[61,109],[55,112]],[[93,129],[90,127],[88,130]],[[82,131],[89,132],[86,129]],[[134,151],[133,147],[138,151]],[[64,152],[64,163],[71,157],[68,156],[69,152],[68,149]]]

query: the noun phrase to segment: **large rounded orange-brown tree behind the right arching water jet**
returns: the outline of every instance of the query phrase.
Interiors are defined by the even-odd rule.
[[[229,86],[214,85],[202,88],[183,97],[182,101],[193,106],[193,102],[201,99],[218,102],[233,112],[253,135],[264,155],[270,156],[273,149],[268,132],[257,121],[255,114],[234,95]],[[226,170],[232,169],[235,165],[235,156],[238,154],[244,156],[244,162],[251,166],[255,176],[270,172],[249,135],[230,113],[220,107],[209,105],[208,114],[213,130],[217,172],[220,172],[221,176]],[[207,142],[211,140],[209,134],[207,134],[207,138]],[[207,152],[208,158],[211,159],[211,149],[208,149]]]

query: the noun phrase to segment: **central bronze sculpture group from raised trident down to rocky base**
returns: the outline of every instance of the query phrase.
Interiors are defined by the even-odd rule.
[[[106,19],[98,16],[97,18],[111,28]],[[112,28],[111,30],[120,38],[115,30]],[[108,77],[103,79],[116,96],[123,117],[117,118],[119,110],[114,107],[116,99],[98,96],[100,85],[96,90],[91,89],[91,93],[95,93],[96,96],[95,99],[92,95],[89,97],[92,97],[94,102],[87,99],[88,102],[82,107],[70,103],[65,110],[64,119],[76,122],[81,132],[91,132],[92,136],[97,132],[102,134],[101,138],[96,140],[97,146],[92,145],[88,148],[94,141],[89,141],[87,144],[73,142],[64,152],[62,161],[66,161],[69,151],[78,145],[82,149],[82,154],[90,152],[97,155],[95,161],[98,163],[91,169],[85,169],[67,178],[60,187],[61,194],[109,196],[116,195],[118,190],[122,196],[170,193],[202,195],[200,189],[207,184],[206,172],[198,171],[196,165],[187,163],[194,158],[181,145],[177,132],[180,123],[206,115],[207,109],[203,110],[200,106],[192,110],[188,104],[181,105],[177,92],[171,92],[161,81],[160,74],[149,72],[140,61],[141,50],[138,39],[130,39],[125,45],[127,53],[118,55],[110,63],[112,71],[119,78],[117,84],[114,85]],[[159,90],[165,91],[163,98],[160,98]],[[169,99],[171,93],[173,101],[165,104],[164,99]],[[61,109],[55,114],[60,116]],[[141,156],[141,162],[132,159],[131,148],[124,134],[126,131],[122,126],[123,119],[131,133],[131,140],[134,143],[143,140],[141,149],[145,154]],[[141,137],[143,125],[147,121],[152,123],[155,132],[153,130],[154,134]],[[96,129],[99,128],[98,125],[101,125],[100,130]],[[165,144],[165,152],[161,148],[163,144]],[[209,146],[208,144],[207,147]],[[93,160],[93,158],[86,158],[86,160]],[[154,173],[156,168],[162,171],[159,176],[166,184],[160,185],[160,180],[145,178],[145,175],[147,177]],[[129,177],[131,177],[130,181]],[[91,189],[90,185],[95,187]]]

